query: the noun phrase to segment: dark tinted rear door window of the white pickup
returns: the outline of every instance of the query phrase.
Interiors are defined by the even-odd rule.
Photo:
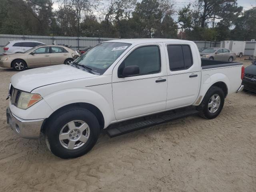
[[[168,45],[167,52],[170,70],[185,70],[193,65],[193,58],[189,45]]]

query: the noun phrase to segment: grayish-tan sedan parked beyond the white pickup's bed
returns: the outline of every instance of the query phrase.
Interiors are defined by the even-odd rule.
[[[200,53],[202,59],[219,60],[232,62],[236,59],[236,54],[225,48],[212,47]]]

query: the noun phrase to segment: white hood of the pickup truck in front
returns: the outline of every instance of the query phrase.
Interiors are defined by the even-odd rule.
[[[16,89],[31,92],[38,87],[95,76],[97,75],[62,64],[19,72],[12,76],[11,84]]]

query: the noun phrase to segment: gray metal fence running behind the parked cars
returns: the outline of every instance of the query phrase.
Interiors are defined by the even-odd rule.
[[[6,35],[0,34],[0,54],[3,47],[13,40],[35,40],[45,44],[66,44],[72,46],[72,49],[82,49],[88,46],[94,46],[100,42],[113,40],[118,38],[102,38],[102,37],[67,37],[67,36],[30,36],[30,35]],[[220,42],[213,41],[194,41],[198,48],[220,47]],[[246,42],[244,55],[256,55],[256,42]]]

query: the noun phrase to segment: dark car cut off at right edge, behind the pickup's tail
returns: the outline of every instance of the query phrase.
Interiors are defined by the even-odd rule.
[[[256,61],[245,68],[244,79],[242,84],[244,85],[244,90],[256,93]]]

